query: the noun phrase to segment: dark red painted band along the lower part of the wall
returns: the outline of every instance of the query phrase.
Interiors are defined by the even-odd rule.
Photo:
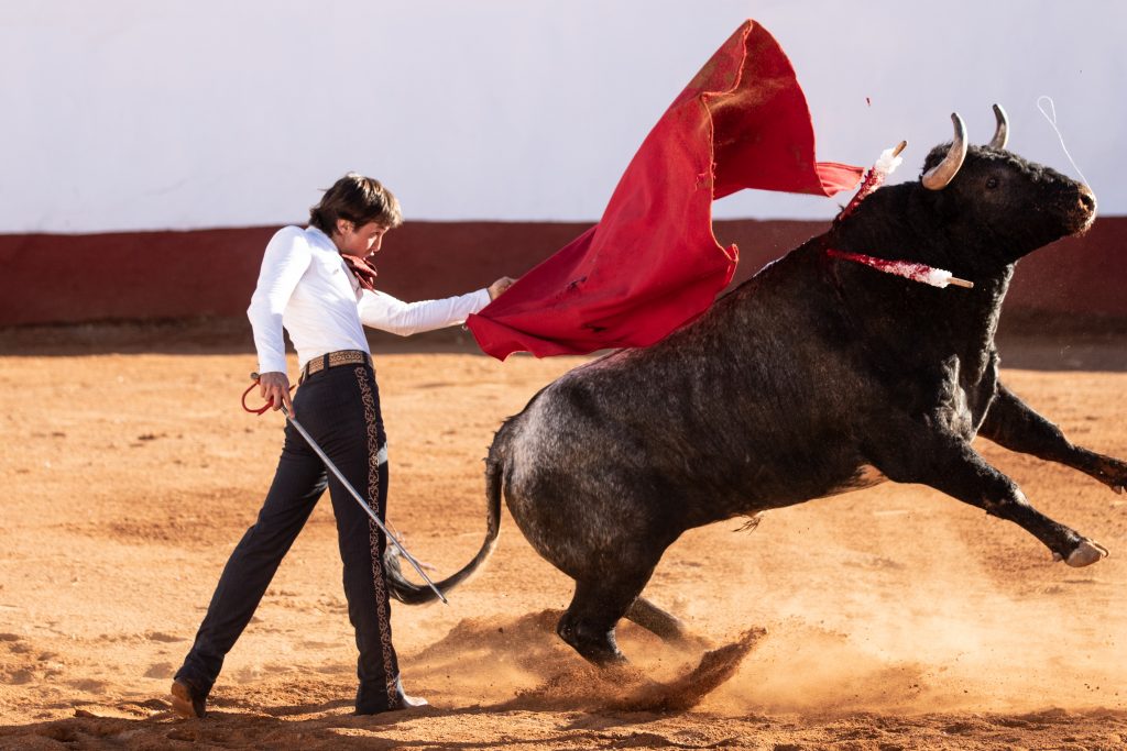
[[[587,223],[408,222],[384,240],[381,286],[403,299],[442,297],[520,276]],[[736,281],[826,222],[718,221],[740,249]],[[277,227],[0,235],[0,325],[101,320],[241,318]],[[1101,217],[1021,261],[1008,316],[1127,320],[1127,217]]]

